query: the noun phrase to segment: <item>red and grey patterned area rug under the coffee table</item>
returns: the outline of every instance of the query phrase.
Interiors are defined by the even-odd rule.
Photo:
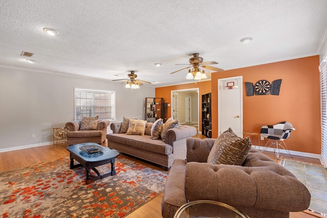
[[[164,190],[167,174],[123,157],[116,175],[85,184],[69,158],[0,173],[2,217],[124,217]],[[97,167],[110,172],[110,164]],[[91,176],[96,174],[91,170]]]

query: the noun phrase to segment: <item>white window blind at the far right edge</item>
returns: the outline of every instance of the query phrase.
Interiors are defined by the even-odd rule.
[[[321,106],[321,162],[327,168],[327,58],[321,62],[320,70],[320,106]]]

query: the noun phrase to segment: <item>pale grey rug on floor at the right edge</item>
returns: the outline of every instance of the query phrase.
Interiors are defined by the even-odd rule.
[[[322,165],[283,158],[281,165],[296,176],[311,193],[309,211],[327,217],[327,169]]]

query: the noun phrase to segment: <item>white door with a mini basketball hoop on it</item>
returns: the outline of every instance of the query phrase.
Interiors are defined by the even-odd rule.
[[[243,77],[218,80],[218,135],[229,127],[243,138]]]

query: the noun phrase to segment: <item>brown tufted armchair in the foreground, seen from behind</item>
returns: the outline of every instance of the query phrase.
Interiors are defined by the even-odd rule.
[[[180,206],[197,200],[222,202],[251,218],[286,218],[289,212],[309,207],[311,196],[306,186],[254,148],[241,166],[206,163],[215,140],[186,140],[187,161],[175,160],[170,169],[161,203],[162,217],[172,218]],[[204,208],[197,212],[212,215]]]

